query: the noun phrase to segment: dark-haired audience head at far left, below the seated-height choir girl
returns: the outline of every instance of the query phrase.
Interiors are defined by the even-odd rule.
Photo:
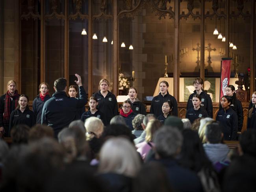
[[[28,134],[30,128],[27,125],[19,124],[11,128],[11,138],[13,144],[28,143]]]

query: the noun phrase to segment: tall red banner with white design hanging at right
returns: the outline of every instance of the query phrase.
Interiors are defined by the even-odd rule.
[[[225,88],[229,85],[231,59],[232,58],[222,58],[221,61],[220,102],[221,98],[225,95]]]

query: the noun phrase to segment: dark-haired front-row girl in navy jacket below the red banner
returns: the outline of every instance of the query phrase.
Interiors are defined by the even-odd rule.
[[[224,140],[236,140],[238,129],[238,117],[230,107],[232,98],[224,95],[221,98],[222,109],[218,111],[216,120],[223,126]]]

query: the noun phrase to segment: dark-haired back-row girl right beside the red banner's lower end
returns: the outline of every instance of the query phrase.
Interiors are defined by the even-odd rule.
[[[231,97],[230,107],[236,112],[238,117],[238,131],[241,132],[243,128],[243,107],[242,103],[236,99],[235,87],[233,85],[228,85],[225,88],[225,95]],[[222,109],[222,106],[219,106],[219,110]]]

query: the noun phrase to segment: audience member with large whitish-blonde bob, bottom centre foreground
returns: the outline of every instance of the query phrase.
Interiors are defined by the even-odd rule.
[[[139,156],[127,139],[110,138],[100,150],[99,178],[111,192],[131,191],[140,167]]]

